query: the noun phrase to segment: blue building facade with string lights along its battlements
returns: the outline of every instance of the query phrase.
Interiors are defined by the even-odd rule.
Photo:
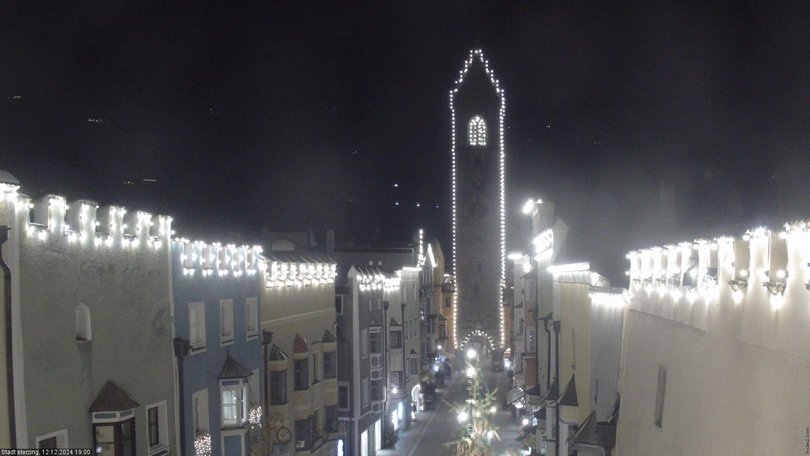
[[[264,386],[261,248],[176,239],[171,261],[182,449],[248,455]]]

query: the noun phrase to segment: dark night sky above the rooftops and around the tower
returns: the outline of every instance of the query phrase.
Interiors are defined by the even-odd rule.
[[[569,257],[620,280],[627,250],[810,216],[807,1],[9,3],[0,169],[34,197],[449,251],[448,90],[480,47],[510,233],[555,201]]]

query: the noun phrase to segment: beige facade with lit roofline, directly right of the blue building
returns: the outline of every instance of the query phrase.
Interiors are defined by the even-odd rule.
[[[338,340],[336,265],[322,255],[267,254],[261,328],[272,455],[336,456]]]

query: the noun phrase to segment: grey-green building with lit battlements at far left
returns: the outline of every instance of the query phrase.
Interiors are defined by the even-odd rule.
[[[3,175],[9,446],[177,452],[171,219],[33,202]]]

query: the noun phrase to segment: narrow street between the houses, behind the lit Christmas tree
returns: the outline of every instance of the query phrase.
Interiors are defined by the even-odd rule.
[[[517,448],[515,440],[520,431],[520,423],[508,410],[500,406],[509,390],[509,379],[505,372],[492,372],[488,364],[482,368],[487,385],[497,388],[498,412],[495,426],[501,440],[495,442],[495,455],[501,456],[509,448]],[[377,452],[379,456],[445,456],[451,449],[445,446],[459,435],[459,425],[449,404],[464,402],[466,398],[466,378],[463,372],[456,372],[453,381],[447,388],[437,390],[437,406],[433,411],[419,413],[417,421],[410,429],[400,432],[399,441],[394,449]]]

